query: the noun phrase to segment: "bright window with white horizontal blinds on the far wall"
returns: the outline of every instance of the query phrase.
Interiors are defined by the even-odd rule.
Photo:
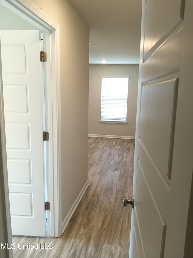
[[[126,122],[129,76],[102,76],[101,122]]]

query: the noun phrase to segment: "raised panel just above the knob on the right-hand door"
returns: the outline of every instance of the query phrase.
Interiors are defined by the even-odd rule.
[[[169,179],[177,90],[178,78],[144,85],[141,92],[139,137],[156,167]]]

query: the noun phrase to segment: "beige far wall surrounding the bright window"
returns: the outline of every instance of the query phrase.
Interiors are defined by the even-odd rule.
[[[128,86],[128,124],[100,123],[101,76],[130,76]],[[139,65],[89,66],[89,134],[135,136]]]

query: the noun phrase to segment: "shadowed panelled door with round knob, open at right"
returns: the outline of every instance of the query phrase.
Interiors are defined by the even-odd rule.
[[[186,6],[143,0],[130,258],[184,257],[193,155],[192,133],[186,135],[193,110],[192,8],[189,0]]]

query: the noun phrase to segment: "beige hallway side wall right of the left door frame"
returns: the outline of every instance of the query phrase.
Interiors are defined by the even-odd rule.
[[[60,26],[62,221],[87,181],[89,28],[67,0],[32,0]]]

